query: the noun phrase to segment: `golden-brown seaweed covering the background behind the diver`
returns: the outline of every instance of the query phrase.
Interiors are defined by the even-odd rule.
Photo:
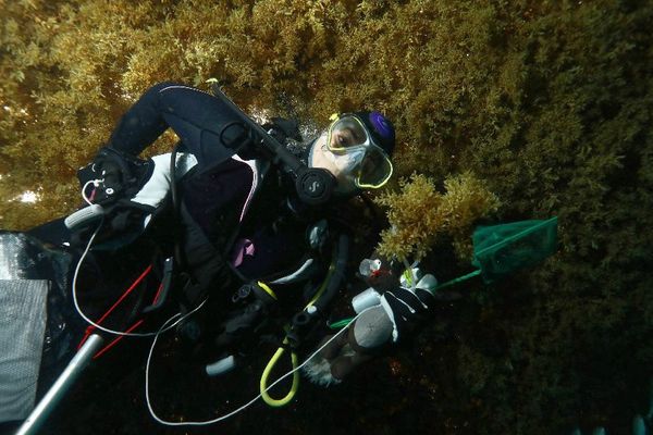
[[[558,216],[559,252],[461,286],[396,355],[267,424],[320,433],[354,412],[348,432],[627,433],[653,375],[651,23],[636,0],[0,0],[0,227],[74,210],[77,167],[157,82],[218,80],[248,110],[320,126],[380,110],[398,140],[382,204],[442,202],[468,177],[470,213]],[[473,219],[454,221],[463,252]],[[451,249],[414,228],[410,252]]]

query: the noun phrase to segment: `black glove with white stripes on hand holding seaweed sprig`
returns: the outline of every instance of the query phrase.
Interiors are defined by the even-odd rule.
[[[398,287],[381,295],[381,306],[393,324],[392,338],[397,343],[429,310],[435,298],[429,288],[433,288],[433,275],[424,275],[415,289]]]

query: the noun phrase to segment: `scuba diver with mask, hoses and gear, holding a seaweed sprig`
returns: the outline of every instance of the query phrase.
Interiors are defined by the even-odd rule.
[[[368,288],[352,299],[357,315],[338,333],[326,330],[336,296],[352,287],[346,282],[353,250],[350,224],[364,215],[344,212],[354,197],[387,183],[395,145],[394,127],[379,112],[342,113],[331,121],[317,138],[301,146],[295,123],[272,119],[260,126],[219,89],[210,95],[174,83],[148,89],[122,116],[93,163],[79,170],[82,196],[88,207],[63,221],[69,233],[56,240],[48,236],[53,227],[46,224],[27,235],[8,234],[5,241],[0,239],[0,248],[5,249],[0,253],[10,260],[4,265],[0,262],[0,275],[10,282],[11,290],[23,299],[25,285],[38,286],[46,294],[48,286],[42,281],[47,278],[63,294],[48,302],[48,308],[63,307],[70,300],[70,284],[75,309],[90,325],[75,358],[45,396],[48,400],[39,402],[35,418],[25,424],[36,427],[34,422],[47,417],[64,383],[70,385],[69,374],[83,369],[81,360],[98,357],[122,336],[155,337],[146,362],[146,401],[152,417],[162,424],[200,424],[164,422],[152,410],[148,368],[157,338],[164,331],[176,327],[177,337],[189,346],[193,357],[202,360],[208,375],[231,370],[238,364],[236,357],[256,352],[263,339],[275,340],[279,350],[263,371],[258,397],[268,405],[283,406],[296,391],[298,370],[317,384],[340,383],[358,365],[409,336],[434,301],[451,300],[453,294],[436,291],[434,276],[415,264],[372,253],[361,259],[358,270]],[[138,157],[169,128],[180,139],[172,152],[151,159]],[[65,243],[72,249],[50,251],[52,245],[61,248]],[[51,261],[56,254],[61,261]],[[23,273],[40,265],[34,259],[52,264],[42,273]],[[133,274],[134,266],[144,262],[149,264],[146,271],[98,315],[101,308],[94,302],[106,306],[114,300],[115,293],[104,290],[114,290],[111,287],[118,282],[124,284],[122,272],[131,268]],[[76,264],[72,281],[71,264]],[[126,313],[132,319],[118,323],[130,324],[134,315],[177,307],[178,313],[156,333],[132,333],[143,320],[128,328],[100,325],[152,270],[158,289],[146,287],[152,295],[138,296],[138,303]],[[20,282],[23,275],[30,283]],[[82,306],[77,294],[85,302]],[[149,296],[153,296],[151,304],[143,308]],[[34,306],[29,300],[25,304]],[[45,302],[41,306],[37,314],[46,318]],[[72,323],[66,315],[51,314],[48,321],[61,318],[62,328]],[[172,321],[175,323],[168,326]],[[94,346],[100,346],[102,337],[93,334],[94,328],[120,337],[96,353]],[[285,336],[280,339],[282,331]],[[5,334],[3,338],[11,343],[13,337]],[[288,348],[293,370],[276,382],[293,375],[291,394],[269,400],[267,391],[276,384],[267,385],[270,364]],[[32,365],[38,365],[40,349],[33,346],[29,350]],[[297,350],[310,353],[300,365],[295,361]],[[10,381],[0,387],[16,384]],[[16,385],[25,389],[25,384],[35,383]],[[29,394],[33,400],[36,391]],[[221,421],[252,401],[201,424]],[[12,417],[24,418],[25,412]]]

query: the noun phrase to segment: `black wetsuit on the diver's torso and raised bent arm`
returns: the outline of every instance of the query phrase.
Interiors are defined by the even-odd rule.
[[[292,274],[308,257],[328,251],[326,244],[310,247],[307,240],[323,210],[301,204],[287,175],[256,159],[256,150],[239,148],[244,135],[235,121],[220,99],[162,83],[123,115],[109,141],[109,147],[137,156],[170,127],[182,151],[197,159],[178,183],[182,241],[192,272],[201,276],[187,295],[193,302],[209,287],[213,294],[233,290],[244,278]]]

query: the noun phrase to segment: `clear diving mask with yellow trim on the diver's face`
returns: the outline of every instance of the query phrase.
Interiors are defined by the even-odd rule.
[[[335,119],[326,133],[325,147],[333,153],[333,162],[350,174],[357,187],[379,188],[392,175],[390,158],[355,115]]]

